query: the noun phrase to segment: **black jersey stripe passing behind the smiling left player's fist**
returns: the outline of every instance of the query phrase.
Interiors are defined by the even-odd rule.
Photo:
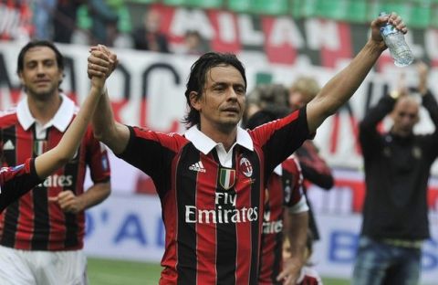
[[[82,152],[82,146],[78,148],[78,154],[76,157],[71,160],[68,164],[64,166],[64,175],[71,176],[71,183],[72,185],[64,186],[63,191],[71,190],[73,191],[74,195],[80,195],[78,193],[78,187],[82,185],[78,185],[78,173],[79,173],[79,161],[81,157]],[[66,239],[64,240],[64,246],[65,248],[74,248],[77,247],[79,244],[78,240],[78,230],[79,230],[79,224],[78,224],[78,215],[72,214],[72,213],[66,213],[65,214],[65,225],[66,225]]]

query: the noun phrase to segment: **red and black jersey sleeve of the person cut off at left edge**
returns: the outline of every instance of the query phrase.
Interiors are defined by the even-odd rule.
[[[0,168],[0,212],[41,182],[33,158],[25,164]]]

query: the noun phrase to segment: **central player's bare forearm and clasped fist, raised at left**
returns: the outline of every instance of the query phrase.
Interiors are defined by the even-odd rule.
[[[110,57],[114,65],[111,69],[115,69],[117,57],[111,53],[107,47],[99,46],[92,47],[89,55],[89,76],[94,76],[105,69],[105,58]],[[108,91],[105,89],[104,94],[99,100],[97,111],[94,113],[93,119],[94,136],[105,143],[113,153],[122,153],[130,140],[130,130],[127,126],[114,120],[114,114],[110,105]]]

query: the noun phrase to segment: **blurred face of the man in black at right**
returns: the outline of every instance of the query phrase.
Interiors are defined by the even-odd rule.
[[[418,122],[418,103],[412,98],[400,98],[391,113],[394,124],[392,132],[401,136],[412,133],[413,127]]]

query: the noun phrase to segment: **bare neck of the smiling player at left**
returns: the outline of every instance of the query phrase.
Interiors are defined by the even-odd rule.
[[[62,99],[59,94],[51,96],[49,100],[37,100],[34,96],[27,96],[27,103],[35,120],[44,125],[53,119],[61,106]]]

